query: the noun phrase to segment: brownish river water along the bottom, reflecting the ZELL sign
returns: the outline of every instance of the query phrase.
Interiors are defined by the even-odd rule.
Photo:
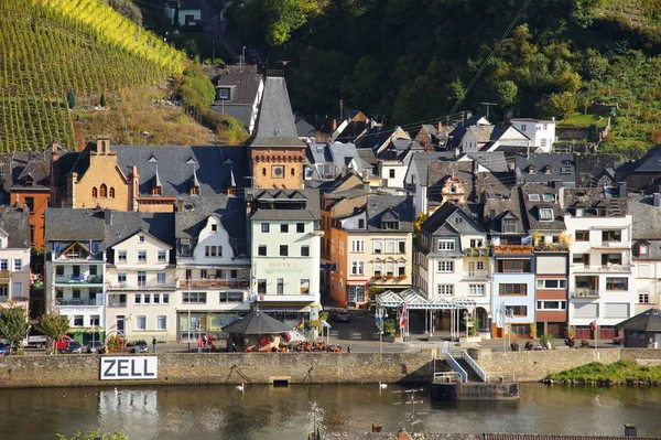
[[[661,387],[595,388],[522,384],[514,403],[431,405],[427,393],[389,385],[247,385],[0,390],[1,439],[54,439],[100,428],[130,440],[305,440],[314,426],[384,431],[661,434]],[[395,393],[399,391],[399,393]],[[409,403],[409,404],[407,404]]]

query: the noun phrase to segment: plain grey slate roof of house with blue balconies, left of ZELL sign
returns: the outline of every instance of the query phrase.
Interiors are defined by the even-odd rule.
[[[46,242],[85,242],[106,239],[104,211],[46,208],[44,216]]]

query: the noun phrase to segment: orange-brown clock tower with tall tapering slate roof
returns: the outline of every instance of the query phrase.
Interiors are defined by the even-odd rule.
[[[252,186],[302,190],[306,148],[296,133],[284,77],[268,76],[249,149]]]

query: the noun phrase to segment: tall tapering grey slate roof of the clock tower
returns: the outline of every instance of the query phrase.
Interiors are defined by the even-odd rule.
[[[264,83],[251,147],[303,147],[299,139],[286,83],[281,76],[269,76]]]

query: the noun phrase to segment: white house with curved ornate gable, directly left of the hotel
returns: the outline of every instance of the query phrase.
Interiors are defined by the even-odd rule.
[[[176,339],[197,332],[218,339],[220,329],[250,311],[250,258],[245,200],[181,200],[176,223]]]

